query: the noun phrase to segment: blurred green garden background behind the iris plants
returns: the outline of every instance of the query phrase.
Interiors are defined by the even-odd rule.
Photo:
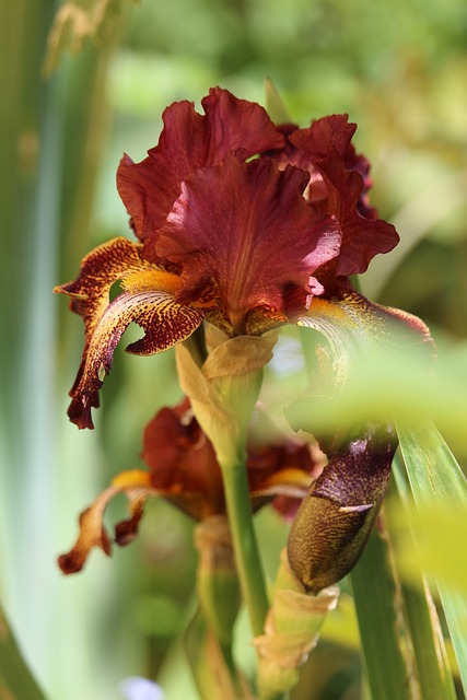
[[[0,5],[0,598],[51,700],[113,700],[122,677],[159,672],[168,700],[195,698],[174,642],[194,608],[183,515],[151,503],[139,540],[112,560],[94,553],[69,579],[55,563],[79,512],[115,474],[141,465],[143,424],[179,397],[173,355],[119,348],[97,429],[78,432],[66,408],[82,327],[51,289],[91,247],[128,233],[116,168],[124,151],[138,161],[156,143],[165,106],[199,104],[215,84],[264,103],[269,77],[301,125],[341,112],[359,125],[372,201],[401,235],[362,288],[430,325],[455,393],[440,395],[439,411],[465,466],[467,416],[450,410],[467,394],[467,4],[75,0],[51,30],[60,7]],[[288,374],[270,375],[279,405]],[[110,523],[121,509],[110,509]],[[272,576],[287,528],[265,512],[258,529]],[[244,621],[240,639],[247,666]],[[359,678],[345,595],[296,698],[359,698]]]

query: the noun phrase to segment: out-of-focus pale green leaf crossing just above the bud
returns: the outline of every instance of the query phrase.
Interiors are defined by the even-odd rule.
[[[339,425],[369,420],[404,424],[416,416],[430,416],[453,448],[465,451],[466,369],[464,352],[443,353],[432,369],[417,352],[398,349],[383,362],[377,352],[365,349],[364,358],[352,358],[349,381],[340,394],[303,397],[289,413],[302,429],[316,434],[332,434]]]

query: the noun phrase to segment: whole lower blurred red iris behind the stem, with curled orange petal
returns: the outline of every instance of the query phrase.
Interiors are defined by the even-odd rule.
[[[255,411],[255,431],[247,451],[248,488],[254,512],[272,502],[292,518],[310,483],[323,468],[323,454],[312,443],[278,432],[267,416]],[[130,517],[115,527],[115,540],[128,545],[138,534],[149,498],[162,497],[197,522],[225,515],[221,469],[214,448],[198,424],[188,399],[175,408],[162,408],[144,429],[142,459],[149,470],[119,474],[80,517],[74,547],[59,558],[63,573],[75,573],[94,547],[110,553],[104,513],[118,493],[128,500]]]

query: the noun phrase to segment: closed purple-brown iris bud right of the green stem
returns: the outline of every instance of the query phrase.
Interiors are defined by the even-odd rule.
[[[382,505],[397,447],[392,427],[371,427],[325,467],[292,524],[288,555],[313,593],[355,564]]]

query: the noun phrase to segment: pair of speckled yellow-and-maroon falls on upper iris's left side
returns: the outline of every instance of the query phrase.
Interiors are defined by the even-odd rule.
[[[109,303],[110,288],[117,281],[126,291]],[[68,411],[79,428],[93,428],[91,409],[100,405],[98,389],[129,324],[136,323],[145,331],[127,348],[132,354],[162,352],[201,324],[202,308],[187,308],[175,301],[178,287],[177,275],[142,257],[141,244],[114,238],[83,259],[74,282],[56,288],[71,296],[71,308],[82,316],[85,327],[83,358]]]

